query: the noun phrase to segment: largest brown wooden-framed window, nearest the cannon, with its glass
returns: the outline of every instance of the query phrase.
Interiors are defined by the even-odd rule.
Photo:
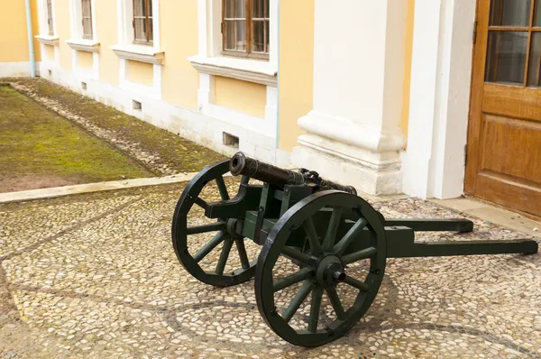
[[[269,59],[270,0],[223,0],[225,55]]]

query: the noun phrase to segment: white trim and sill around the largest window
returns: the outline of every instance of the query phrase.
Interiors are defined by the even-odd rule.
[[[222,56],[222,0],[197,0],[198,55],[188,58],[200,73],[278,85],[278,0],[270,0],[269,60]]]

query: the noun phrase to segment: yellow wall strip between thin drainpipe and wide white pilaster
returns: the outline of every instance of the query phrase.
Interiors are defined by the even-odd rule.
[[[314,0],[280,2],[280,150],[291,152],[302,134],[297,120],[312,110]]]

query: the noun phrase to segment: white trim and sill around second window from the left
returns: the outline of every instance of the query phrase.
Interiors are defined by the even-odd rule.
[[[71,39],[67,40],[68,46],[77,51],[99,52],[96,26],[96,0],[91,0],[92,7],[92,39],[83,39],[83,9],[81,0],[69,0],[69,24],[71,27]]]

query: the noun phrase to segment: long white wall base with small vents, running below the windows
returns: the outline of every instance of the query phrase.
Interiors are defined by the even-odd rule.
[[[224,120],[190,110],[168,102],[156,99],[154,96],[144,96],[141,91],[115,87],[98,81],[92,76],[65,71],[54,61],[41,61],[41,78],[96,99],[107,106],[128,115],[133,115],[142,121],[157,127],[177,133],[179,136],[232,156],[237,151],[243,151],[248,156],[279,165],[289,164],[289,152],[277,149],[276,138],[262,133],[247,130],[241,126],[229,124]],[[82,89],[85,82],[87,89]],[[141,109],[133,108],[133,101],[141,103]],[[233,134],[239,138],[239,147],[224,144],[224,133]]]

